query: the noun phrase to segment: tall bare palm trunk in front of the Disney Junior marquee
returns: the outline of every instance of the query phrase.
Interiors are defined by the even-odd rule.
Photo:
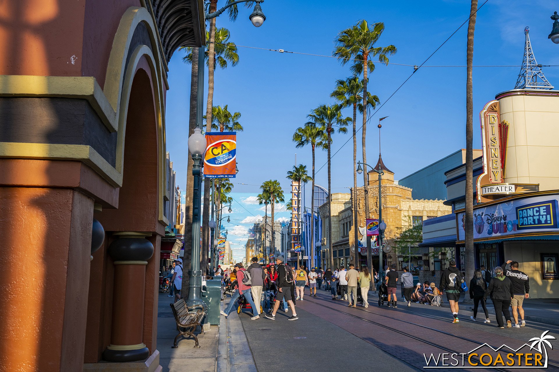
[[[464,252],[466,278],[473,278],[475,251],[473,247],[473,31],[476,27],[477,0],[472,0],[466,53],[466,215]],[[468,296],[466,296],[468,297]],[[465,298],[466,298],[465,297]],[[469,298],[468,298],[469,299]],[[466,301],[466,300],[465,300]]]

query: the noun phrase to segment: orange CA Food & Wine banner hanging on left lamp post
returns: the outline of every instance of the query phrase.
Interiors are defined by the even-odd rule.
[[[204,177],[235,178],[236,148],[236,132],[206,133]]]

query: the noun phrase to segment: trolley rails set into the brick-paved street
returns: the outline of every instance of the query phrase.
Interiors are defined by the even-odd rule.
[[[321,300],[322,300],[322,301],[325,301],[325,302],[329,302],[329,303],[333,303],[333,304],[337,304],[337,305],[338,305],[338,302],[330,301],[330,300],[328,300],[328,299],[321,299]],[[400,335],[409,337],[409,338],[414,339],[414,340],[416,340],[416,341],[423,342],[424,344],[427,344],[427,345],[430,345],[430,346],[433,346],[433,347],[437,347],[437,349],[441,349],[441,350],[447,351],[447,352],[449,352],[449,353],[460,354],[460,352],[458,352],[458,351],[456,351],[456,350],[449,349],[447,346],[439,345],[439,344],[437,344],[437,343],[435,343],[435,342],[422,339],[421,337],[414,336],[414,335],[410,335],[410,334],[408,334],[408,333],[406,333],[406,332],[404,332],[404,331],[397,330],[397,329],[395,329],[394,327],[387,326],[387,325],[385,325],[385,324],[383,324],[383,323],[376,322],[376,321],[373,321],[373,320],[369,320],[369,319],[366,319],[366,318],[363,318],[363,317],[354,315],[354,314],[352,314],[352,313],[348,313],[348,312],[339,310],[338,308],[334,308],[334,307],[331,307],[331,306],[326,306],[326,305],[324,305],[323,303],[319,303],[319,302],[316,302],[316,301],[312,301],[312,300],[310,300],[310,299],[306,299],[305,301],[314,303],[315,305],[318,305],[318,306],[322,306],[322,307],[329,308],[330,310],[333,310],[333,311],[342,313],[342,314],[344,314],[344,315],[347,315],[347,316],[350,316],[350,317],[353,317],[353,318],[357,318],[357,319],[362,320],[362,321],[364,321],[364,322],[371,323],[371,324],[373,324],[373,325],[376,325],[376,326],[385,328],[385,329],[387,329],[387,330],[396,332],[397,334],[400,334]],[[418,323],[414,323],[414,322],[402,320],[402,319],[399,319],[399,318],[391,317],[391,316],[384,315],[384,314],[381,314],[381,313],[377,313],[377,312],[374,312],[374,311],[369,311],[369,310],[366,310],[366,309],[364,309],[364,308],[358,308],[358,309],[361,310],[361,311],[365,311],[365,312],[367,312],[367,313],[371,313],[371,314],[377,315],[377,316],[382,316],[382,317],[385,317],[385,318],[390,318],[391,320],[396,320],[396,321],[399,321],[399,322],[407,323],[407,324],[409,324],[409,325],[413,325],[413,326],[417,326],[417,327],[421,327],[421,328],[426,328],[426,329],[428,329],[428,330],[430,330],[430,331],[439,332],[439,333],[441,333],[441,334],[444,334],[444,335],[447,335],[447,336],[451,336],[451,337],[454,337],[454,338],[456,338],[456,339],[460,339],[460,340],[463,340],[463,341],[472,342],[473,344],[476,344],[476,345],[479,345],[479,344],[480,344],[479,341],[471,340],[471,339],[468,339],[467,337],[458,336],[458,335],[453,335],[453,334],[451,334],[451,333],[449,333],[449,332],[446,332],[446,331],[438,330],[438,329],[435,329],[435,328],[432,328],[432,327],[428,327],[428,326],[424,326],[424,325],[421,325],[421,324],[418,324]],[[359,336],[357,336],[357,335],[355,335],[355,336],[356,336],[356,337],[359,337]],[[367,341],[367,342],[369,342],[370,344],[373,344],[371,341],[366,340],[366,339],[363,339],[363,337],[359,337],[359,339],[362,339],[363,341]],[[373,345],[375,345],[375,344],[373,344]],[[375,346],[377,346],[377,345],[375,345]],[[377,346],[377,347],[378,347],[378,346]],[[381,350],[382,350],[382,349],[381,349]],[[396,356],[396,357],[397,357],[397,356]],[[400,358],[398,358],[398,359],[400,359]],[[471,359],[472,359],[473,361],[477,361],[478,363],[480,362],[480,360],[477,359],[477,358],[473,358],[473,357],[472,357]],[[402,360],[402,359],[401,359],[401,360]],[[405,361],[405,360],[402,360],[402,361],[404,361],[405,363],[408,363],[408,362]],[[408,363],[408,364],[410,364],[410,363]],[[417,366],[415,366],[415,365],[413,365],[413,364],[410,364],[410,365],[414,366],[414,368],[418,368]],[[559,366],[557,366],[557,365],[553,365],[553,364],[549,364],[549,363],[548,363],[547,365],[548,365],[548,368],[556,368],[557,370],[559,370]],[[509,370],[509,369],[506,369],[506,368],[491,368],[491,370],[497,370],[497,371],[503,371],[503,372],[510,372],[510,370]]]

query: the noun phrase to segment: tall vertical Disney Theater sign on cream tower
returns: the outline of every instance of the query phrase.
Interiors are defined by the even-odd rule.
[[[477,202],[539,190],[539,185],[505,183],[506,142],[509,123],[500,120],[499,101],[488,102],[480,112],[484,172],[477,178]]]

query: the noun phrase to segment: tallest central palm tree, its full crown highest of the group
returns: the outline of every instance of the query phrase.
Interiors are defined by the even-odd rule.
[[[336,47],[334,49],[334,56],[338,57],[342,65],[347,64],[348,61],[353,61],[351,70],[354,74],[363,73],[363,127],[361,133],[361,143],[363,146],[363,163],[367,163],[367,153],[365,146],[365,138],[367,132],[367,74],[369,70],[372,72],[375,70],[375,64],[372,61],[373,57],[376,57],[378,62],[382,64],[387,64],[389,62],[389,55],[394,55],[396,53],[396,47],[394,45],[389,45],[385,47],[377,47],[375,44],[378,38],[382,35],[384,31],[384,23],[377,22],[373,23],[372,28],[369,28],[367,21],[362,20],[358,22],[357,25],[347,28],[338,34],[336,40]],[[369,58],[371,60],[369,60]],[[367,189],[368,184],[368,173],[363,172],[363,192],[365,200],[365,218],[369,218],[369,192]],[[371,252],[371,240],[367,239],[367,252]],[[367,259],[369,259],[369,253],[367,253]],[[369,265],[369,272],[372,273],[372,255],[371,262]],[[382,262],[381,262],[382,266]]]

